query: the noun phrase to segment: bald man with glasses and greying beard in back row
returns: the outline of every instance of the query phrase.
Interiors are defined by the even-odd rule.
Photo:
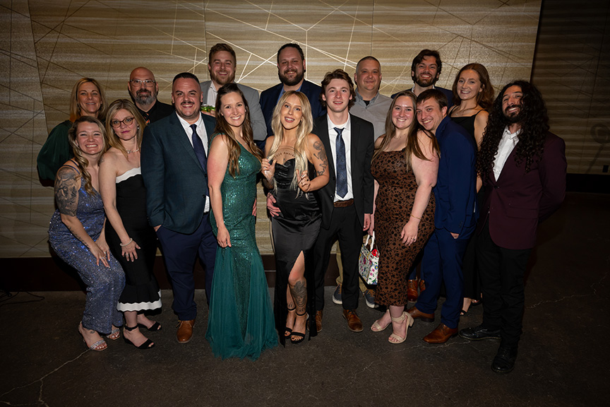
[[[157,100],[159,85],[149,69],[139,66],[131,71],[127,90],[131,100],[136,104],[146,124],[156,122],[174,112],[172,105]]]

